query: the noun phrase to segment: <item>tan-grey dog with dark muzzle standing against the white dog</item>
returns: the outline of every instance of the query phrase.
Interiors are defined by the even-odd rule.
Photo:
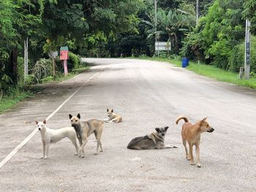
[[[88,142],[88,137],[94,133],[97,139],[97,148],[94,155],[97,155],[100,147],[100,152],[102,152],[102,143],[100,139],[102,137],[103,131],[103,121],[102,120],[87,120],[87,121],[80,121],[80,114],[78,113],[77,116],[72,116],[69,114],[69,119],[71,120],[71,125],[75,128],[75,132],[77,134],[78,140],[80,142],[80,148],[78,150],[78,157],[84,158],[85,152],[84,147]]]

